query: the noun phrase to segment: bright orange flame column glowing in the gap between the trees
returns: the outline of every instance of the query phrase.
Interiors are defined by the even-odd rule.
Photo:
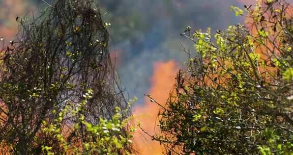
[[[154,64],[154,74],[151,79],[153,86],[150,89],[150,94],[162,105],[167,101],[169,91],[175,82],[175,75],[178,70],[179,67],[174,61],[156,62]],[[139,117],[136,118],[136,121],[141,122],[143,130],[154,135],[160,132],[159,127],[156,127],[160,107],[154,102],[151,102],[148,98],[146,98],[145,102],[143,106],[134,107],[133,114]],[[142,155],[162,154],[163,149],[159,142],[152,141],[151,138],[146,136],[142,131],[138,130],[136,132],[134,141]]]

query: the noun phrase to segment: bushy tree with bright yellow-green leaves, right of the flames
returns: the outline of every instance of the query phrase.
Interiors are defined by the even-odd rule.
[[[243,15],[231,7],[236,15]],[[166,154],[293,152],[293,16],[282,0],[245,6],[245,25],[182,35],[194,42],[159,113]]]

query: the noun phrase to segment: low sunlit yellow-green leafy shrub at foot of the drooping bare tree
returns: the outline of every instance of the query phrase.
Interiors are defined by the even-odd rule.
[[[48,155],[52,154],[131,154],[125,148],[129,148],[132,145],[132,135],[135,131],[133,127],[129,129],[129,134],[125,134],[125,128],[128,128],[128,119],[123,115],[128,110],[120,110],[116,108],[116,114],[112,116],[110,120],[100,118],[100,123],[93,125],[85,121],[85,116],[81,114],[82,108],[87,104],[87,100],[93,96],[92,90],[87,90],[83,95],[82,102],[75,106],[67,106],[63,111],[58,114],[58,118],[54,120],[54,123],[48,125],[46,121],[43,125],[42,132],[51,134],[57,139],[57,144],[53,146],[43,145],[42,152]],[[129,108],[132,102],[129,103]],[[72,124],[70,133],[64,132],[63,120],[68,116],[75,118],[76,122]],[[73,135],[77,137],[74,138]],[[58,147],[55,147],[58,146]]]

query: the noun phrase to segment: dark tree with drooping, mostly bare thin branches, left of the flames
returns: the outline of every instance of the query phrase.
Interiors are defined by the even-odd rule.
[[[56,136],[42,129],[54,124],[65,107],[80,104],[87,89],[93,94],[78,117],[62,119],[61,131],[68,131],[66,138],[77,139],[76,144],[89,141],[84,124],[78,136],[68,130],[81,116],[98,125],[100,118],[116,114],[115,107],[126,109],[107,49],[109,24],[94,5],[92,0],[56,0],[40,17],[18,19],[19,39],[1,51],[2,154],[41,154],[42,146],[62,151]]]

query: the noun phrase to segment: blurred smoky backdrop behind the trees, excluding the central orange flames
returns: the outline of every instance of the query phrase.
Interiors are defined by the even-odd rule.
[[[187,60],[181,42],[193,50],[190,42],[180,36],[187,25],[194,29],[225,29],[241,21],[229,6],[242,7],[236,0],[97,0],[104,19],[111,23],[112,58],[129,98],[138,97],[151,88],[150,77],[155,62]],[[48,3],[50,1],[47,0]],[[0,0],[0,36],[6,42],[15,38],[16,17],[37,13],[44,3],[39,0]]]

